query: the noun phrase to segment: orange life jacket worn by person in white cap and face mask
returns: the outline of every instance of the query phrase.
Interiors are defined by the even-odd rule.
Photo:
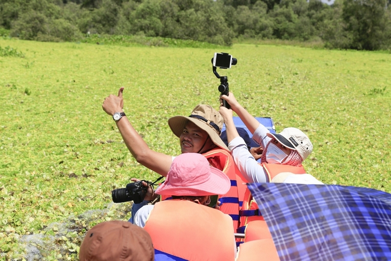
[[[268,164],[262,163],[263,169],[268,176],[269,180],[272,180],[281,172],[292,172],[294,174],[304,174],[306,173],[304,167],[290,166],[290,165],[281,165],[281,164]],[[253,220],[264,220],[259,207],[253,196],[251,195],[250,190],[246,190],[243,199],[243,205],[239,212],[240,215],[240,227],[237,230],[238,233],[244,233],[245,226],[248,222]]]

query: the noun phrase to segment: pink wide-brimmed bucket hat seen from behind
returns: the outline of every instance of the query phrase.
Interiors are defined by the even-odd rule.
[[[209,166],[199,153],[183,153],[175,157],[166,181],[156,190],[159,195],[208,196],[224,195],[231,187],[227,175]]]

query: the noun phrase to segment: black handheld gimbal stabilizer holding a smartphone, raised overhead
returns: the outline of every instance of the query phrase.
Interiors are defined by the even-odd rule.
[[[216,75],[216,77],[220,79],[218,91],[221,93],[221,95],[229,94],[228,77],[218,75],[216,71],[217,67],[219,67],[220,69],[229,69],[231,68],[231,65],[236,65],[237,63],[238,60],[232,57],[232,55],[226,52],[215,52],[215,56],[212,58],[212,71]],[[223,100],[223,106],[228,109],[230,108],[228,102],[225,100]]]

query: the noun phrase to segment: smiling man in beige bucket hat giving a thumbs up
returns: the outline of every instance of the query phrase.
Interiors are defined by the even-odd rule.
[[[121,87],[118,95],[109,95],[103,102],[102,108],[107,114],[113,116],[126,146],[136,161],[154,172],[166,176],[170,170],[173,156],[152,150],[133,128],[122,109],[124,106],[123,90],[124,87]],[[228,176],[231,179],[234,178],[235,164],[228,147],[220,139],[223,118],[213,107],[197,105],[189,117],[174,116],[168,120],[168,123],[174,135],[179,138],[182,153],[203,154],[211,166],[220,169],[227,175],[230,174]],[[136,179],[131,180],[137,181]],[[233,190],[237,190],[237,188],[235,187]],[[234,210],[231,209],[228,213],[224,207],[221,207],[220,210],[226,214],[239,213],[239,206],[230,208],[234,208]],[[134,213],[135,209],[133,208],[132,216]]]

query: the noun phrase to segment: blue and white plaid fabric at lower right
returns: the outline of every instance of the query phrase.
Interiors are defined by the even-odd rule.
[[[336,185],[248,188],[282,261],[391,260],[391,194]]]

